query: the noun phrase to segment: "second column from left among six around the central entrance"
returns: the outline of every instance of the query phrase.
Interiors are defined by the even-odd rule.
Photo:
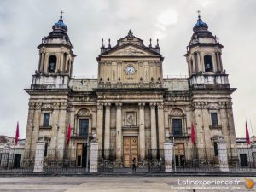
[[[105,109],[106,109],[106,112],[105,112],[104,149],[108,150],[110,148],[110,103],[106,103]]]

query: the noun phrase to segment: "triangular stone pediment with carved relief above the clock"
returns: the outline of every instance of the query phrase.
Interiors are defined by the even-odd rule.
[[[148,48],[142,48],[136,44],[124,44],[123,46],[109,50],[104,56],[159,56]]]

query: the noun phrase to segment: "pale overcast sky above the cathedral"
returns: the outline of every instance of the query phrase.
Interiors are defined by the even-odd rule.
[[[41,38],[51,32],[61,10],[78,55],[73,76],[96,76],[101,39],[114,46],[129,29],[149,44],[160,39],[164,75],[187,75],[186,46],[197,10],[224,45],[223,65],[230,74],[236,137],[256,134],[256,1],[254,0],[0,0],[0,135],[26,136],[29,96],[25,88],[38,68]]]

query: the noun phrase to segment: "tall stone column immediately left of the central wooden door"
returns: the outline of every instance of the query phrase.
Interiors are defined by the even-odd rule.
[[[116,159],[122,157],[122,103],[116,103]]]

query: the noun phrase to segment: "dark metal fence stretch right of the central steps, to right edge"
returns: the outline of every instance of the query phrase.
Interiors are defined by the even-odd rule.
[[[172,166],[174,172],[219,172],[224,168],[255,172],[255,152],[253,148],[174,148]]]

